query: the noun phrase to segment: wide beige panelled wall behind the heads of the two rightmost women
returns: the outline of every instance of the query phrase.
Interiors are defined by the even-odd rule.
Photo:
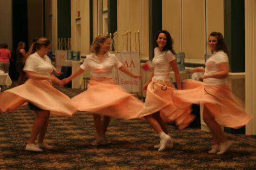
[[[174,49],[186,63],[204,63],[208,36],[224,32],[223,0],[162,0],[162,28],[171,33]]]

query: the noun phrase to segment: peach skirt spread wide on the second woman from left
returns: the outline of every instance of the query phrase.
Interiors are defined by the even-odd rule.
[[[111,78],[92,78],[88,89],[72,98],[80,111],[121,119],[138,118],[143,102]]]

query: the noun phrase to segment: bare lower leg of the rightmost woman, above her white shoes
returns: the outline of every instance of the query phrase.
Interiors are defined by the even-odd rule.
[[[228,141],[222,132],[221,126],[216,122],[215,117],[206,107],[203,108],[203,121],[210,128],[215,144],[219,145],[220,143]]]

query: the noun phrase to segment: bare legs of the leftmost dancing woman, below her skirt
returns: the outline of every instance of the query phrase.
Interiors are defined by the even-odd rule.
[[[49,119],[49,111],[37,110],[37,111],[35,111],[35,114],[36,114],[36,119],[34,120],[34,124],[32,127],[32,133],[31,133],[31,136],[30,136],[30,139],[28,142],[29,144],[34,144],[37,135],[45,128],[45,126],[46,126],[45,123]],[[46,126],[46,128],[47,128],[47,126]],[[45,128],[45,131],[46,131],[46,128]],[[42,133],[45,133],[45,132],[42,132]],[[44,134],[43,134],[43,136],[44,136]]]

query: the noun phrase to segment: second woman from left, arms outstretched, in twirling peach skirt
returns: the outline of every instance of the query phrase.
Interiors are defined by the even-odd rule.
[[[108,35],[101,34],[96,37],[90,49],[93,54],[88,55],[81,67],[71,76],[62,80],[66,84],[81,75],[85,70],[90,70],[91,80],[88,89],[76,95],[72,98],[72,101],[74,101],[78,110],[94,115],[94,124],[98,136],[91,143],[94,146],[110,143],[110,140],[105,136],[110,117],[138,118],[143,107],[142,101],[136,99],[133,94],[129,94],[115,83],[112,79],[112,69],[115,67],[134,78],[141,75],[132,74],[120,63],[115,54],[108,52],[109,48],[110,37]],[[101,115],[104,115],[103,120],[101,120]]]

